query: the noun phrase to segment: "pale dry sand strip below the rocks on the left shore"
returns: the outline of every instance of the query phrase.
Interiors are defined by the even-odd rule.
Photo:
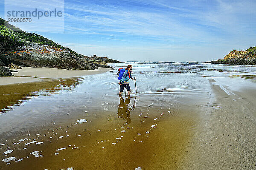
[[[67,70],[61,68],[33,68],[23,67],[12,73],[15,77],[0,77],[0,85],[9,85],[24,82],[38,82],[46,79],[61,79],[81,77],[91,74],[101,74],[111,70],[110,68],[99,68],[97,70]]]

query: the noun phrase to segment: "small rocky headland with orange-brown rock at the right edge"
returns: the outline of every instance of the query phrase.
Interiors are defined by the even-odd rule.
[[[212,64],[256,65],[256,47],[250,47],[245,51],[233,50],[224,59],[210,61]]]

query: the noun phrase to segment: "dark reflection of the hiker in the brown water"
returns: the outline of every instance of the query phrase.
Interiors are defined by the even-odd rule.
[[[122,95],[119,95],[120,97],[120,104],[118,105],[118,117],[121,117],[125,119],[128,123],[131,123],[130,119],[130,111],[132,110],[133,107],[128,108],[128,105],[130,103],[131,98],[128,96],[127,99],[122,98]]]

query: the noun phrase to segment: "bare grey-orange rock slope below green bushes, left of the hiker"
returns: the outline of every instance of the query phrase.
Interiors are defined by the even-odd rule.
[[[0,54],[0,60],[5,65],[14,63],[26,67],[50,67],[64,69],[94,70],[98,67],[112,68],[105,62],[99,62],[86,56],[76,56],[53,45],[33,44],[18,47],[16,51],[6,51]]]

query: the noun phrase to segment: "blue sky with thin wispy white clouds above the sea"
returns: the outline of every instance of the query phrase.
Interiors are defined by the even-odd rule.
[[[64,31],[32,32],[87,56],[203,62],[256,46],[255,6],[255,0],[65,0]]]

